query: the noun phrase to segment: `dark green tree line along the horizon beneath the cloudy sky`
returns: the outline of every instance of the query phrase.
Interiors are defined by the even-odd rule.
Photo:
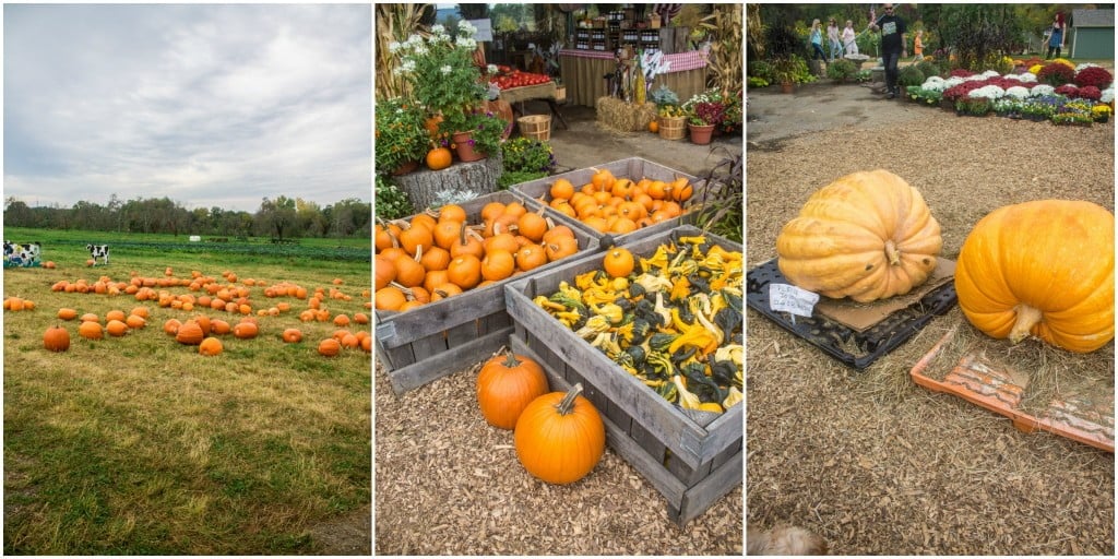
[[[216,237],[358,237],[372,233],[372,205],[347,198],[329,206],[302,198],[264,198],[255,212],[212,208],[187,209],[169,198],[121,200],[108,203],[79,201],[70,208],[29,207],[9,197],[4,225],[45,229],[82,229],[111,233],[160,233]]]

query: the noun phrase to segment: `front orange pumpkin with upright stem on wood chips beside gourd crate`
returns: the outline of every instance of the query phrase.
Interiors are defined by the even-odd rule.
[[[548,483],[574,483],[594,470],[606,449],[606,427],[576,383],[567,392],[532,400],[513,435],[517,457],[528,473]]]

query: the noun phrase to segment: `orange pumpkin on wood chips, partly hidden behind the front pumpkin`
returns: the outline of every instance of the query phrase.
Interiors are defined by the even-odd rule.
[[[543,369],[524,356],[498,356],[477,373],[477,406],[494,427],[512,430],[520,413],[548,392]]]

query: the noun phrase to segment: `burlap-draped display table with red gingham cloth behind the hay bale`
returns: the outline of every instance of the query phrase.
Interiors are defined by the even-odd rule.
[[[652,89],[661,84],[675,92],[680,102],[707,91],[707,54],[701,50],[664,55],[671,63],[667,74],[656,76]],[[609,93],[603,76],[613,75],[617,68],[612,51],[574,50],[559,51],[559,69],[567,84],[567,96],[571,104],[593,107],[598,97]]]

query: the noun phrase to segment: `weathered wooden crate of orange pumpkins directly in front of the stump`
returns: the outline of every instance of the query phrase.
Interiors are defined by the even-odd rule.
[[[477,222],[482,207],[491,201],[520,201],[509,191],[493,192],[462,203],[467,219]],[[567,259],[597,252],[598,241],[575,230],[579,252]],[[546,272],[563,260],[533,269]],[[489,357],[509,341],[512,320],[504,309],[504,284],[513,278],[461,295],[423,305],[407,312],[377,311],[375,339],[377,359],[388,371],[396,394],[404,394],[440,377],[462,370]]]

